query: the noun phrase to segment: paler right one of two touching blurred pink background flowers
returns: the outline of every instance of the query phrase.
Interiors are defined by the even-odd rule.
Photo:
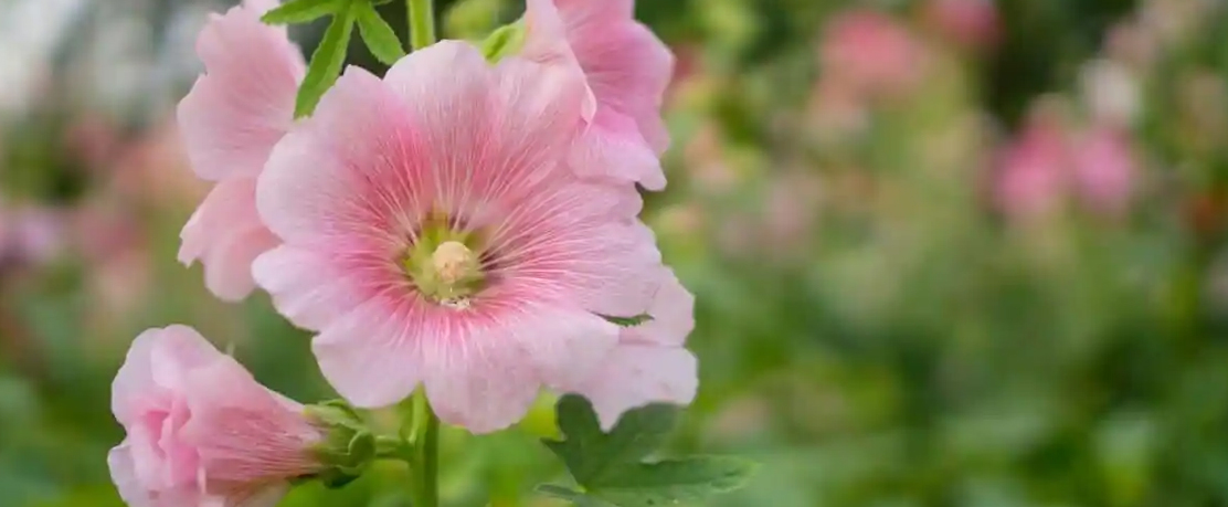
[[[1108,126],[1093,126],[1074,140],[1074,189],[1092,211],[1117,216],[1133,196],[1137,162],[1130,137]]]

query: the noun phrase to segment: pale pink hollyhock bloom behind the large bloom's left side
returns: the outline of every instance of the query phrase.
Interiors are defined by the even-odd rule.
[[[183,227],[179,261],[200,260],[205,285],[228,301],[252,292],[252,260],[276,246],[255,211],[255,177],[293,124],[306,72],[286,31],[260,22],[275,5],[248,0],[210,20],[196,43],[206,74],[179,103],[192,167],[217,182]]]

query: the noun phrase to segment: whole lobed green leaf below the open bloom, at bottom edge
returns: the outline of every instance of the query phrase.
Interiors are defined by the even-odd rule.
[[[538,491],[581,507],[651,507],[705,500],[744,486],[755,468],[744,459],[694,457],[643,462],[668,438],[677,412],[677,408],[661,404],[636,409],[607,433],[588,400],[564,397],[558,404],[564,439],[544,443],[562,459],[583,490],[543,485]]]

